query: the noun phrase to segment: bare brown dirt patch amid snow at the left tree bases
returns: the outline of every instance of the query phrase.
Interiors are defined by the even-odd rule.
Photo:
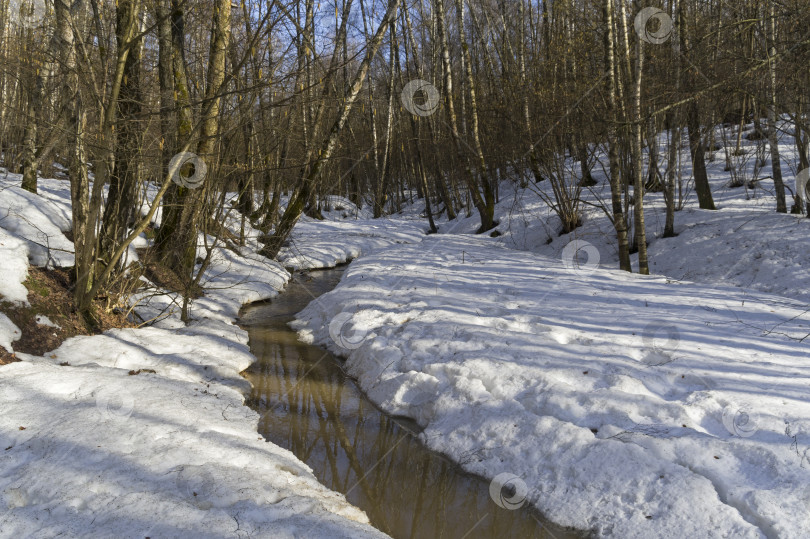
[[[21,307],[0,303],[0,310],[20,328],[22,336],[13,343],[15,352],[44,355],[58,348],[66,339],[77,335],[93,335],[108,329],[134,327],[123,313],[109,312],[103,299],[96,303],[98,327],[88,327],[76,312],[70,289],[70,274],[66,269],[46,270],[28,268],[28,303]],[[0,364],[16,358],[0,348]]]

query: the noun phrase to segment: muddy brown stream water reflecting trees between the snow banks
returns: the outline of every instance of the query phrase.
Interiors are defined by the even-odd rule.
[[[241,324],[259,358],[246,372],[254,388],[248,404],[262,414],[259,432],[295,453],[395,538],[577,537],[528,507],[496,505],[488,481],[427,450],[414,424],[365,398],[340,359],[298,341],[287,322],[334,288],[341,273],[296,275],[271,303],[243,311]]]

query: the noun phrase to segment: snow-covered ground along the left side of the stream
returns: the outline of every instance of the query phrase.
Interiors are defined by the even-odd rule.
[[[26,302],[29,261],[72,264],[65,186],[40,180],[36,196],[19,176],[0,184],[0,300]],[[228,224],[238,230],[235,218]],[[416,226],[325,224],[329,241],[297,242],[308,267],[419,236]],[[255,254],[258,231],[248,232],[242,256],[215,249],[188,326],[169,309],[155,327],[75,337],[0,367],[0,537],[383,536],[306,464],[265,442],[243,405],[239,373],[255,358],[234,318],[290,277]],[[144,319],[176,300],[141,299]],[[0,346],[12,352],[17,338],[0,313]]]

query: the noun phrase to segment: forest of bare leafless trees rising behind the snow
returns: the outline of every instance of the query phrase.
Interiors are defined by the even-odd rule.
[[[632,193],[664,193],[672,235],[685,180],[657,152],[645,163],[645,149],[666,131],[675,155],[686,133],[693,188],[712,209],[707,148],[722,145],[735,185],[759,179],[756,167],[753,178],[743,171],[743,130],[717,140],[713,129],[748,119],[746,136],[761,140],[754,158],[774,163],[775,211],[806,212],[773,144],[788,114],[791,173],[810,166],[799,0],[669,2],[632,20],[635,3],[610,1],[5,4],[3,164],[34,193],[38,170],[65,167],[82,311],[150,226],[151,215],[136,215],[150,186],[153,211],[166,214],[155,249],[188,293],[197,231],[218,236],[211,216],[231,211],[225,193],[266,232],[271,258],[300,215],[318,216],[333,194],[375,217],[416,194],[431,230],[434,216],[474,211],[490,231],[504,178],[551,184],[545,196],[570,232],[597,151],[609,155],[601,205],[620,267],[640,251],[647,273],[644,199]],[[205,172],[195,177],[195,165]]]

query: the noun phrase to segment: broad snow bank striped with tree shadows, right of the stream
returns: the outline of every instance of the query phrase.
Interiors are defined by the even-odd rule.
[[[570,254],[570,251],[569,251]],[[803,304],[430,236],[295,327],[465,469],[615,537],[810,535]]]

